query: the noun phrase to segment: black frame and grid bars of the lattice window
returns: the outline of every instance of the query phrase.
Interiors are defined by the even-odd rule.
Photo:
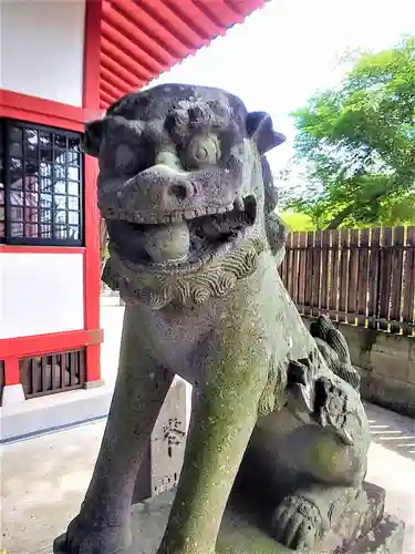
[[[85,155],[83,151],[83,133],[82,132],[76,132],[76,131],[69,131],[66,129],[62,127],[54,127],[50,125],[43,125],[41,123],[32,123],[27,120],[18,120],[14,117],[0,117],[0,125],[3,127],[2,129],[2,137],[3,137],[3,144],[2,148],[3,151],[2,154],[2,162],[3,162],[3,194],[4,194],[4,237],[0,237],[0,247],[8,245],[8,246],[63,246],[63,247],[83,247],[85,244]],[[23,136],[24,136],[24,130],[25,129],[33,129],[35,131],[41,131],[43,133],[54,133],[54,134],[62,134],[66,138],[76,138],[80,141],[80,158],[79,158],[79,170],[80,170],[80,181],[79,181],[79,211],[76,212],[79,214],[79,232],[80,232],[80,237],[79,238],[41,238],[41,237],[13,237],[11,236],[11,202],[10,202],[10,194],[11,194],[11,188],[10,188],[10,158],[12,157],[10,155],[10,127],[11,126],[17,126],[22,130]],[[54,148],[52,146],[51,152],[53,154]],[[68,152],[68,151],[66,151]],[[38,146],[38,160],[39,160],[39,146]],[[24,164],[25,157],[24,154],[22,155],[22,162]],[[52,164],[54,165],[54,161]],[[65,168],[68,168],[68,164],[65,164]],[[52,178],[52,181],[54,181]],[[66,215],[69,214],[68,209],[68,198],[71,196],[68,194],[68,174],[65,175],[65,197],[66,197],[66,206],[65,206],[65,213]],[[40,194],[40,193],[37,193]],[[52,193],[53,197],[54,193]],[[53,208],[51,208],[53,209]],[[75,212],[75,211],[73,211]],[[52,216],[53,218],[53,216]],[[39,225],[39,222],[38,222]],[[69,223],[66,223],[66,229],[68,229]],[[56,223],[53,222],[52,219],[52,233],[56,227]]]

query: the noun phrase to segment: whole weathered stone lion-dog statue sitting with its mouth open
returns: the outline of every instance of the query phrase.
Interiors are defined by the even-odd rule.
[[[158,554],[214,554],[232,488],[292,550],[313,548],[361,491],[359,375],[326,318],[309,332],[277,271],[286,228],[264,154],[283,141],[237,96],[180,84],[87,124],[103,278],[126,309],[100,454],[55,553],[128,552],[137,471],[175,375],[193,384],[193,414]]]

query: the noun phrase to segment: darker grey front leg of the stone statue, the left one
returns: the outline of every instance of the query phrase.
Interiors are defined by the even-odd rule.
[[[55,540],[55,554],[126,554],[134,484],[173,373],[146,351],[135,308],[124,317],[120,370],[94,473],[79,515]]]

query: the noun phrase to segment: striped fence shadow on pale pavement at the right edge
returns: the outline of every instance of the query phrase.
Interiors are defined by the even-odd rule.
[[[415,420],[366,404],[372,440],[415,461]]]

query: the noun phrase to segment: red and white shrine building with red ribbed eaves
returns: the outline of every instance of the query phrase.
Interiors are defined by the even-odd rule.
[[[84,125],[266,0],[0,6],[0,398],[101,380],[96,161]]]

